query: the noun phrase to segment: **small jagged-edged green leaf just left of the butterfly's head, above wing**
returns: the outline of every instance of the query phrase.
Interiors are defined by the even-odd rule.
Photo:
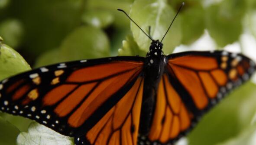
[[[141,50],[133,37],[128,35],[126,40],[123,40],[123,48],[118,49],[119,56],[145,56],[146,52]]]

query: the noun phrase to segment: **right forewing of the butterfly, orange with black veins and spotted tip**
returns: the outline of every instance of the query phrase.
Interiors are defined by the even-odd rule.
[[[192,99],[193,110],[203,111],[248,80],[255,63],[225,51],[197,52],[169,59],[167,69]]]

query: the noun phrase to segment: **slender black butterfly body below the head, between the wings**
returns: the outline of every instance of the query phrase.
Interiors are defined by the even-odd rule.
[[[144,64],[145,83],[140,117],[142,123],[139,127],[141,135],[147,135],[152,123],[152,115],[156,105],[156,92],[166,65],[165,60],[165,56],[149,56]]]

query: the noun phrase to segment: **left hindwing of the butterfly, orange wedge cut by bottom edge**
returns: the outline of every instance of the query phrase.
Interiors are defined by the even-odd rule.
[[[139,77],[117,105],[113,106],[85,136],[75,140],[76,145],[136,145],[143,82],[143,78]]]

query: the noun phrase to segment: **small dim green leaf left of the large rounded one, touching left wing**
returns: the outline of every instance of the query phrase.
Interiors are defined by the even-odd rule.
[[[37,58],[34,68],[61,62],[59,52],[60,49],[52,49],[43,53]]]

